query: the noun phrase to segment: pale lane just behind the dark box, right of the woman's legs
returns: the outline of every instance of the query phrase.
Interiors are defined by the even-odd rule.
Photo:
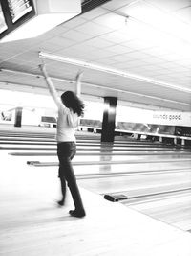
[[[155,172],[138,173],[122,176],[80,179],[80,186],[98,194],[122,193],[128,197],[191,188],[191,173]]]

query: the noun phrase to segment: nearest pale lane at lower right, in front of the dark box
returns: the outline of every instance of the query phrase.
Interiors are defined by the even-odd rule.
[[[186,231],[191,229],[191,189],[123,203],[159,221]]]

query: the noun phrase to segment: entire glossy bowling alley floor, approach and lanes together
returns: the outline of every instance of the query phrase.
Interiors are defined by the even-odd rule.
[[[190,149],[128,138],[100,145],[98,135],[77,133],[74,172],[87,216],[75,219],[70,194],[55,204],[53,133],[0,129],[0,255],[191,255]]]

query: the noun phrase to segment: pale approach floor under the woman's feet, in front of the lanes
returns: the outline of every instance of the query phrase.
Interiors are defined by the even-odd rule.
[[[5,256],[190,256],[191,237],[180,229],[81,189],[84,219],[69,216],[56,175],[23,166],[0,152],[0,253]],[[183,249],[182,249],[183,248]]]

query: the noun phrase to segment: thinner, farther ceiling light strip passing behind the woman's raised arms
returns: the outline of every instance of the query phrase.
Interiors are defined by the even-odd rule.
[[[20,75],[24,75],[24,76],[31,76],[31,77],[35,77],[35,78],[44,78],[42,75],[39,75],[39,74],[32,74],[32,73],[28,73],[28,72],[22,72],[22,71],[11,70],[11,69],[4,69],[3,68],[3,69],[1,69],[1,71],[2,72],[13,73],[13,74],[20,74]],[[54,81],[62,81],[62,82],[67,82],[67,83],[74,83],[75,82],[75,81],[71,81],[71,80],[59,79],[59,78],[54,78],[54,77],[51,77],[51,79],[54,80]],[[91,87],[96,87],[96,88],[100,88],[100,89],[109,90],[109,91],[115,91],[115,92],[135,95],[135,96],[138,96],[138,97],[154,99],[154,100],[158,100],[160,102],[167,102],[167,103],[180,104],[180,105],[189,105],[189,106],[191,105],[191,104],[186,104],[186,103],[177,102],[177,101],[173,101],[173,100],[163,99],[163,98],[159,98],[159,97],[155,97],[155,96],[149,96],[149,95],[145,95],[145,94],[140,94],[140,93],[137,93],[137,92],[131,92],[131,91],[126,91],[126,90],[122,90],[122,89],[106,87],[106,86],[102,86],[102,85],[99,85],[99,84],[93,84],[93,83],[89,83],[89,82],[83,82],[82,81],[82,84],[84,84],[86,86],[91,86]],[[37,88],[42,88],[42,87],[37,87]]]

